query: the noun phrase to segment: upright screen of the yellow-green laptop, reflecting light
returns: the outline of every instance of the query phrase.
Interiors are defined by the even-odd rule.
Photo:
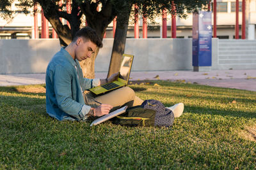
[[[132,67],[132,57],[124,55],[118,78],[128,81],[131,67]]]

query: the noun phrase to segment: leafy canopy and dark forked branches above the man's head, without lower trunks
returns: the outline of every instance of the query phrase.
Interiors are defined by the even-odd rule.
[[[66,3],[64,0],[63,5],[59,5],[60,0],[16,0],[19,3],[18,10],[22,10],[24,13],[28,13],[33,9],[35,3],[39,3],[44,10],[44,15],[52,24],[52,27],[56,30],[63,45],[69,43],[68,39],[72,39],[72,36],[79,29],[81,24],[81,16],[86,16],[86,21],[90,27],[95,29],[100,37],[103,37],[104,32],[108,24],[112,22],[113,18],[117,15],[119,18],[124,18],[130,15],[130,12],[134,14],[139,12],[151,23],[155,22],[155,18],[161,15],[162,10],[166,10],[169,13],[176,14],[178,17],[186,17],[187,13],[197,11],[198,9],[206,6],[209,0],[70,0],[72,11],[67,13]],[[3,11],[0,16],[3,18],[12,17],[13,11],[11,9],[12,3],[15,0],[1,0],[0,10]],[[138,8],[132,8],[132,4],[137,4]],[[102,6],[99,10],[99,6]],[[175,8],[173,8],[175,6]],[[134,16],[134,15],[132,15]],[[70,23],[70,29],[67,25],[63,25],[60,22],[60,18],[65,18]],[[117,18],[118,20],[118,18]],[[120,20],[120,24],[125,24],[124,20]]]

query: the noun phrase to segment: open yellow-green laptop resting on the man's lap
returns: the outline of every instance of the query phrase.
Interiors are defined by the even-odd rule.
[[[131,68],[132,68],[133,55],[123,54],[121,66],[118,73],[118,78],[116,81],[112,81],[110,83],[106,83],[104,85],[100,85],[97,87],[93,87],[89,89],[94,94],[102,94],[105,92],[109,92],[114,89],[118,89],[120,87],[124,87],[128,84]]]

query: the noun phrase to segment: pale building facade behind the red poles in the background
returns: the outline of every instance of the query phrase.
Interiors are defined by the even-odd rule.
[[[19,6],[19,3],[13,3],[12,8],[15,9]],[[211,5],[212,6],[212,5]],[[239,1],[239,35],[241,36],[241,24],[242,24],[242,1]],[[236,25],[236,0],[218,0],[217,1],[217,38],[220,39],[234,39],[235,38],[235,25]],[[40,10],[40,9],[39,9]],[[212,14],[213,17],[213,14]],[[192,37],[192,14],[188,14],[186,19],[177,18],[177,38],[191,38]],[[148,25],[147,38],[162,38],[162,21],[161,18],[156,18],[156,25]],[[63,19],[63,24],[67,21]],[[142,38],[142,25],[143,18],[140,16],[139,20],[139,38]],[[213,23],[213,19],[212,19]],[[22,13],[22,11],[16,11],[12,20],[4,20],[0,18],[0,38],[1,39],[33,39],[35,38],[34,29],[34,15],[33,10],[28,15]],[[42,18],[38,13],[38,33],[41,37],[42,31]],[[246,0],[246,38],[256,38],[256,0]],[[167,16],[167,38],[172,38],[171,35],[172,21],[171,16]],[[52,38],[52,27],[49,24],[49,38]],[[113,38],[113,23],[109,24],[106,31],[105,38]],[[134,38],[134,25],[129,24],[127,31],[127,38]]]

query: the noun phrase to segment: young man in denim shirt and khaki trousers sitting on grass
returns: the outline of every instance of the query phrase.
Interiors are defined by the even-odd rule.
[[[143,103],[129,87],[93,98],[92,101],[102,103],[98,105],[95,102],[89,103],[84,98],[84,90],[111,82],[117,76],[117,73],[113,74],[106,80],[83,78],[79,61],[92,57],[97,47],[102,47],[101,39],[93,29],[84,27],[77,31],[70,45],[61,48],[52,57],[45,77],[46,111],[51,117],[58,120],[84,121],[91,116],[107,115],[111,109],[124,104],[137,106]],[[180,115],[181,113],[179,111]]]

